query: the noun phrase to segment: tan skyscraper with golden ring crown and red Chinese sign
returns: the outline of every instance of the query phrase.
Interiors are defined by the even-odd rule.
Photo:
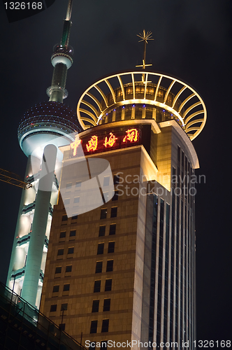
[[[60,148],[62,198],[53,212],[41,310],[93,349],[106,342],[193,349],[199,165],[191,141],[206,109],[191,86],[146,71],[145,57],[142,66],[107,76],[80,97],[84,131],[75,148]],[[104,204],[80,215],[78,150],[87,162],[108,160],[115,184],[108,201],[105,176]],[[75,209],[70,218],[67,205]]]

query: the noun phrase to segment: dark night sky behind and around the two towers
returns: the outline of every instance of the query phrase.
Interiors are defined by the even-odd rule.
[[[27,109],[48,101],[53,45],[59,43],[65,0],[31,18],[8,23],[0,4],[1,163],[24,176],[27,158],[17,127]],[[107,74],[141,64],[138,36],[152,31],[147,63],[193,86],[208,120],[193,141],[206,182],[196,186],[197,338],[231,339],[231,13],[229,0],[73,0],[64,101],[75,109],[85,89]],[[6,282],[21,189],[0,181],[0,281]],[[230,193],[229,193],[230,192]]]

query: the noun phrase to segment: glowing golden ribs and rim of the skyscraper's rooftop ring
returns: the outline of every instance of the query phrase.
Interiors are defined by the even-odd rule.
[[[145,81],[136,80],[135,75],[142,75],[142,77],[145,76]],[[151,80],[152,77],[153,78],[158,77],[158,83],[153,83]],[[113,87],[112,83],[110,82],[110,80],[113,78],[117,78],[117,80],[119,81],[119,85],[117,87]],[[127,78],[126,85],[128,85],[128,80],[132,84],[133,99],[126,99],[126,92],[125,92],[125,86],[124,86],[125,83],[123,83],[124,78]],[[159,88],[161,87],[161,80],[163,78],[166,78],[169,80],[169,83],[168,83],[169,85],[167,88],[165,88],[164,101],[158,102],[157,95],[159,92]],[[102,85],[102,83],[106,84],[108,93],[106,93],[106,91],[103,92],[103,90],[101,89],[100,85]],[[141,83],[143,83],[145,85],[143,99],[136,99],[136,83],[139,83],[140,85]],[[153,83],[154,85],[156,85],[154,86],[154,89],[155,89],[154,99],[146,98],[147,83]],[[171,106],[168,106],[168,104],[166,104],[166,102],[168,101],[168,95],[173,94],[171,90],[173,89],[173,86],[177,87],[177,84],[180,86],[178,86],[178,90],[177,92],[175,92],[173,104]],[[122,90],[122,101],[119,101],[119,102],[117,102],[117,97],[115,95],[115,90],[118,87],[121,87],[121,90]],[[162,91],[164,91],[163,89]],[[96,97],[96,91],[101,95],[101,100],[104,102],[105,106],[102,106],[101,102],[99,101],[99,97]],[[186,94],[187,92],[187,97],[184,96],[184,100],[182,101],[180,106],[179,107],[176,106],[175,108],[175,104],[177,103],[178,99],[181,99],[183,92],[184,94]],[[108,102],[108,94],[111,94],[111,97],[113,100],[111,104],[109,104]],[[86,101],[85,98],[87,96],[90,97],[90,99],[92,99],[92,102],[94,102],[94,105]],[[191,103],[191,100],[193,101],[192,103]],[[82,106],[80,106],[81,104]],[[206,116],[207,116],[203,99],[191,86],[187,85],[186,83],[183,83],[181,80],[178,80],[171,76],[166,76],[165,74],[154,73],[154,72],[144,72],[144,71],[132,71],[132,72],[126,72],[126,73],[117,73],[112,76],[108,76],[107,78],[103,78],[97,81],[96,83],[92,84],[90,87],[88,87],[87,90],[85,90],[85,92],[82,94],[78,102],[78,106],[77,106],[78,120],[82,128],[86,130],[87,128],[91,127],[91,125],[92,126],[98,125],[99,120],[101,120],[101,118],[103,118],[103,116],[105,116],[106,113],[109,113],[110,111],[112,111],[112,109],[116,109],[118,106],[125,106],[128,104],[146,104],[150,106],[159,106],[162,109],[166,109],[167,111],[173,113],[173,115],[181,121],[184,131],[187,133],[187,135],[191,140],[195,139],[198,136],[198,134],[200,134],[201,130],[203,130],[203,127],[206,121]],[[84,107],[87,106],[91,111],[89,111],[89,109],[84,108],[83,105]],[[187,106],[186,110],[184,110],[185,106]],[[199,110],[191,113],[191,111],[195,107],[198,107]],[[196,116],[198,115],[201,115],[201,117],[196,118]],[[88,125],[85,122],[88,122],[91,125]]]

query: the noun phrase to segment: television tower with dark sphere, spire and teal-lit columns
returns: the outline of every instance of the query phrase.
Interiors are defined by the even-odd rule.
[[[28,157],[25,181],[31,188],[22,190],[6,284],[36,307],[41,300],[53,206],[57,204],[63,158],[59,146],[70,144],[72,133],[80,130],[75,113],[63,104],[68,95],[67,71],[73,64],[73,48],[68,45],[72,3],[68,1],[61,41],[51,57],[54,70],[47,89],[49,102],[31,107],[17,130],[20,147]]]

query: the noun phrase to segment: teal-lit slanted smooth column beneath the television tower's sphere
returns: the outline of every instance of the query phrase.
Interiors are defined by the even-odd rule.
[[[55,146],[48,145],[44,148],[27,264],[22,286],[22,297],[33,306],[36,305],[56,157],[57,148]]]

